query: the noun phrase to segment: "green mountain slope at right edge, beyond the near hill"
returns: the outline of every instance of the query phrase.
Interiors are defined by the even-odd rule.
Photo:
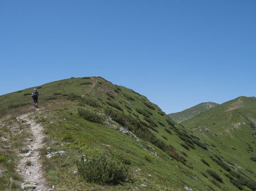
[[[182,123],[255,180],[256,98],[238,97]],[[231,164],[231,165],[232,165]]]

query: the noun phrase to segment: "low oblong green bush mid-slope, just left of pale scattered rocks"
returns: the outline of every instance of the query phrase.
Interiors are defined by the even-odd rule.
[[[78,108],[78,115],[83,117],[85,120],[93,122],[93,123],[101,123],[103,124],[105,121],[105,117],[96,114],[95,112],[89,111],[87,109]]]

